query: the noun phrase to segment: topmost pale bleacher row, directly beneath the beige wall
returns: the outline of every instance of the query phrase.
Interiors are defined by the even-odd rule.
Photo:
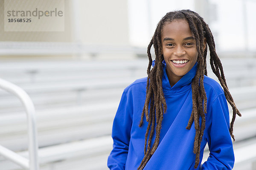
[[[131,45],[84,45],[79,42],[17,42],[0,41],[0,54],[19,55],[19,56],[37,56],[37,55],[82,55],[82,54],[115,54],[132,53],[146,54],[146,48],[133,47]]]

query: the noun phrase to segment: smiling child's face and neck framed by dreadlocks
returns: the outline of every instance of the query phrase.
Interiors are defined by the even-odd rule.
[[[197,61],[195,37],[186,20],[174,20],[163,27],[161,42],[167,75],[173,86]]]

